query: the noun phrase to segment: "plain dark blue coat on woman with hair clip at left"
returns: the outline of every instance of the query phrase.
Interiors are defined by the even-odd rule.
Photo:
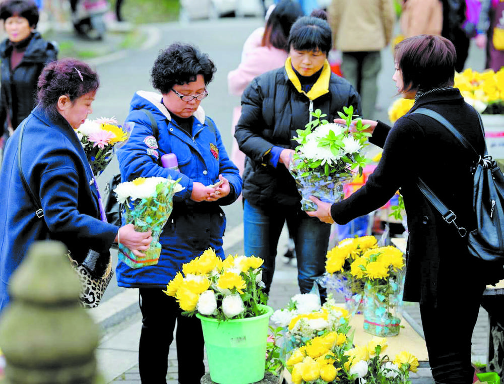
[[[59,115],[49,117],[40,107],[26,121],[21,151],[23,174],[44,216],[35,216],[20,178],[20,131],[16,130],[7,144],[0,172],[0,309],[9,301],[9,279],[34,241],[62,241],[72,257],[81,262],[90,248],[106,252],[118,230],[100,220],[93,174],[70,124]]]

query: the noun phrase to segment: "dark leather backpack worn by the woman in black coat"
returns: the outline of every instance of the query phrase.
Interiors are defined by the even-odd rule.
[[[486,146],[484,155],[479,155],[466,138],[439,113],[427,108],[418,108],[411,113],[429,116],[443,124],[462,143],[464,148],[473,152],[475,158],[479,158],[473,168],[473,213],[476,217],[477,227],[469,233],[465,228],[456,224],[457,215],[434,195],[422,179],[418,179],[417,185],[423,195],[443,215],[443,219],[447,223],[455,225],[461,237],[468,236],[468,248],[472,255],[488,262],[504,264],[504,176],[498,164],[488,155]],[[484,137],[483,123],[479,114],[478,117]]]

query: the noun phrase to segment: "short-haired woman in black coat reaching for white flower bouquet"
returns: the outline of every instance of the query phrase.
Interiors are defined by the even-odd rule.
[[[405,98],[415,99],[413,107],[392,128],[363,121],[374,128],[369,141],[384,149],[375,171],[342,202],[331,205],[311,197],[318,210],[308,215],[345,224],[381,207],[400,188],[409,230],[403,299],[420,302],[436,383],[470,384],[471,336],[482,293],[486,284],[504,276],[469,254],[467,237],[446,223],[416,186],[420,177],[455,212],[459,226],[474,229],[470,169],[478,159],[443,125],[411,113],[421,107],[443,115],[483,153],[478,112],[453,88],[455,63],[455,47],[444,37],[419,35],[396,46],[392,79]]]

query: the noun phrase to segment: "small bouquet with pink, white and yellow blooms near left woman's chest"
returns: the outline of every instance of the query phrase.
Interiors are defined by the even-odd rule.
[[[93,174],[99,176],[112,160],[116,148],[130,138],[134,123],[117,125],[115,118],[86,119],[76,130]]]

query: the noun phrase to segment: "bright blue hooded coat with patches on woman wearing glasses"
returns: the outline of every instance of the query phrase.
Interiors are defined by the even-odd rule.
[[[226,218],[221,205],[234,202],[241,193],[238,168],[226,153],[215,123],[201,108],[194,113],[193,137],[182,131],[171,120],[162,96],[153,92],[138,91],[131,101],[126,121],[135,122],[130,140],[118,150],[117,159],[122,181],[137,177],[161,176],[174,180],[181,178],[184,187],[173,198],[173,212],[159,238],[162,246],[159,262],[155,266],[133,269],[125,263],[117,265],[117,284],[122,287],[166,288],[182,264],[199,256],[209,247],[224,257],[222,236]],[[151,122],[144,111],[148,109],[158,125],[154,137]],[[177,156],[179,171],[163,168],[160,158],[167,153]],[[196,203],[191,200],[193,182],[210,185],[222,174],[229,180],[230,194],[216,202]]]

